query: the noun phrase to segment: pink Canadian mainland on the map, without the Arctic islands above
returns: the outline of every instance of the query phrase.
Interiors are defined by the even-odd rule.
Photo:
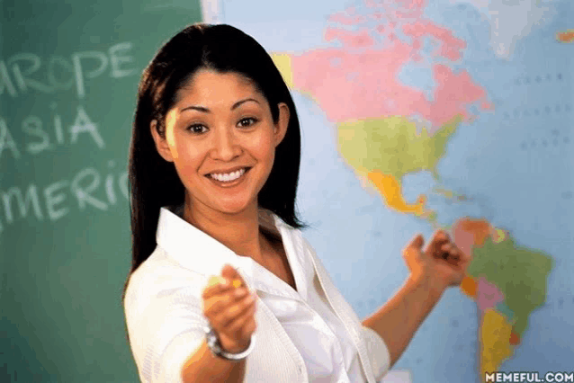
[[[433,100],[427,99],[423,91],[398,81],[401,67],[416,52],[416,48],[399,40],[387,49],[365,49],[361,53],[315,49],[292,57],[293,84],[312,94],[334,122],[417,114],[431,121],[432,134],[456,115],[469,119],[467,107],[484,102],[486,92],[474,84],[466,71],[454,74],[442,64],[433,66],[437,83]],[[349,81],[348,73],[357,76]]]

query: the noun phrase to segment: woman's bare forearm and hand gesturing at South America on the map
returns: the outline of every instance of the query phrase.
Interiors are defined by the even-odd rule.
[[[471,261],[442,230],[435,232],[423,251],[423,236],[416,236],[403,250],[410,275],[399,292],[363,325],[381,336],[390,353],[390,366],[399,360],[449,286],[461,283]]]

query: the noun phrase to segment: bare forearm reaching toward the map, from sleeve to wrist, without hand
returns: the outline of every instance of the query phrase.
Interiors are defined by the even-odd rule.
[[[399,360],[441,295],[431,293],[424,281],[408,278],[394,297],[363,320],[363,325],[379,334],[387,345],[390,367]]]

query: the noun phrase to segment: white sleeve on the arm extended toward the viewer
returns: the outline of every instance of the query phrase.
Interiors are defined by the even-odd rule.
[[[139,378],[143,383],[183,382],[184,363],[202,343],[208,325],[201,300],[189,285],[174,280],[133,282],[124,306]]]

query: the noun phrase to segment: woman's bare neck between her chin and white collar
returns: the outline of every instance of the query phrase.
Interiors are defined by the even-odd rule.
[[[235,254],[248,256],[260,263],[264,260],[265,249],[269,245],[259,230],[259,209],[256,203],[241,212],[228,214],[193,204],[186,199],[184,219],[229,247]]]

